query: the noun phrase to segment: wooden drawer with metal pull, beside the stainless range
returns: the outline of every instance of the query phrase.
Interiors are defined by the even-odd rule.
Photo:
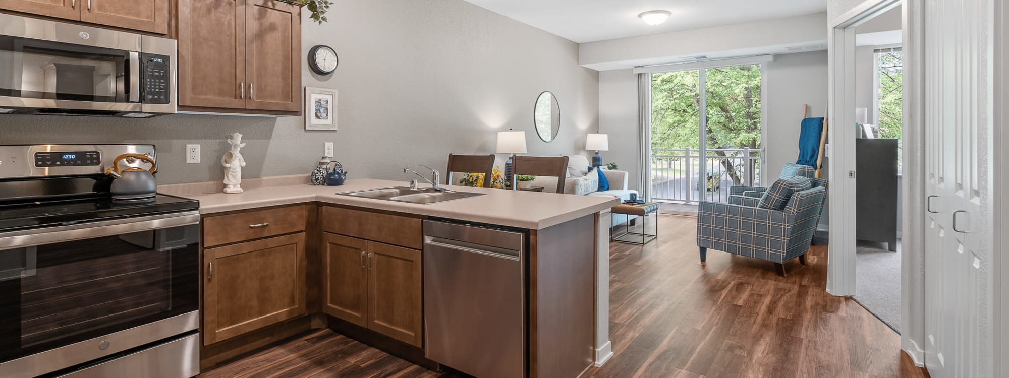
[[[305,205],[256,210],[203,219],[203,245],[222,244],[305,231]]]

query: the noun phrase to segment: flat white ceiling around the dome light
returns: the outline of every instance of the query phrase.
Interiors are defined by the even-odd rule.
[[[798,16],[826,11],[826,0],[465,0],[575,42]],[[668,10],[666,23],[638,14]]]

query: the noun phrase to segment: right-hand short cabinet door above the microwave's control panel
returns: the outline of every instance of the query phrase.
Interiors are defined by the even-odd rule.
[[[77,0],[81,21],[158,34],[169,32],[169,0]]]

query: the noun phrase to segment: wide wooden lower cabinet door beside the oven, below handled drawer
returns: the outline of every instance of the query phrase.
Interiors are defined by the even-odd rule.
[[[305,233],[203,253],[204,345],[307,313]]]

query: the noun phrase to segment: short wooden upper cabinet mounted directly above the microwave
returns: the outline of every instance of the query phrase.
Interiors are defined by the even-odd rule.
[[[158,34],[169,32],[169,0],[0,0],[0,9]]]

